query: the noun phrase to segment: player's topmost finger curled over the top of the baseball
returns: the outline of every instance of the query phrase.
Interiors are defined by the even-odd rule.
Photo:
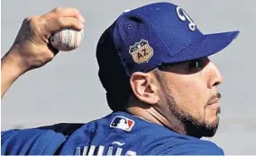
[[[49,13],[43,14],[42,17],[48,20],[53,17],[75,17],[81,22],[85,22],[84,17],[79,13],[78,9],[73,7],[57,7],[51,10]]]

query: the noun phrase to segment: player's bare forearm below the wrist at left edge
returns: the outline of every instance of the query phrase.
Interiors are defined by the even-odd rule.
[[[11,49],[1,59],[1,98],[14,81],[26,71],[21,57],[17,55],[15,50]]]

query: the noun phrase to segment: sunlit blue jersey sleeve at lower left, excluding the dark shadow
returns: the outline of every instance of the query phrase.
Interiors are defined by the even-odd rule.
[[[3,131],[1,132],[1,155],[51,155],[63,142],[63,137],[63,134],[45,129]]]

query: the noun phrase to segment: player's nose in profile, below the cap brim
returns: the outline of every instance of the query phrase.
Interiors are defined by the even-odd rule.
[[[217,67],[210,62],[209,63],[209,82],[208,88],[213,88],[218,86],[220,83],[223,82],[223,76],[217,69]]]

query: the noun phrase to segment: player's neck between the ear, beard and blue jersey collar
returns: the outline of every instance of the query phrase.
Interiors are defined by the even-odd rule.
[[[178,134],[187,134],[184,124],[177,117],[174,117],[172,114],[165,117],[157,108],[151,106],[147,106],[147,108],[144,106],[130,106],[127,108],[127,112],[160,126],[165,126]]]

